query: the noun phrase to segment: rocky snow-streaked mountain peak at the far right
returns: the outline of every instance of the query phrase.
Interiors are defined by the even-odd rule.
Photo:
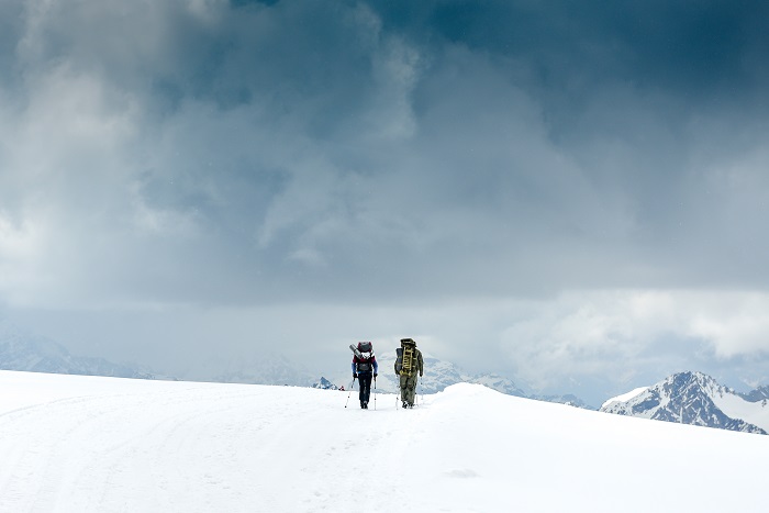
[[[610,399],[601,411],[729,431],[769,431],[766,399],[748,401],[702,372],[672,375],[653,387]]]

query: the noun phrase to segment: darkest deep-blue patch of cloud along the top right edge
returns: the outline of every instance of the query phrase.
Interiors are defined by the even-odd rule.
[[[765,94],[762,2],[460,0],[378,2],[375,9],[386,27],[421,41],[520,59],[533,83],[550,93],[627,80],[683,94]]]

